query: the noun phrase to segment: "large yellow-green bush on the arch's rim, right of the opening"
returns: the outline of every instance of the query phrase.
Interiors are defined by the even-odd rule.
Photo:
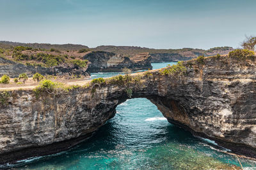
[[[184,76],[186,74],[187,69],[183,66],[183,62],[178,62],[177,64],[161,69],[160,73],[162,75],[170,75],[170,76]]]

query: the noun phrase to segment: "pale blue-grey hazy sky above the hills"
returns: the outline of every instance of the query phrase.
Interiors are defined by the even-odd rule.
[[[0,41],[238,48],[255,0],[0,0]]]

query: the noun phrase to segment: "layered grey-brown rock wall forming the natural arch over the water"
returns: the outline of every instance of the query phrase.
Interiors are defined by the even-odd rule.
[[[0,163],[60,152],[87,138],[131,97],[146,97],[169,122],[256,157],[256,62],[209,57],[184,62],[184,76],[156,71],[129,82],[78,87],[53,96],[33,90],[1,92]],[[124,77],[123,77],[124,78]]]

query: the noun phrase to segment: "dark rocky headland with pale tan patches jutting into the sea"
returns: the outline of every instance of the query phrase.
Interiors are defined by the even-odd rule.
[[[125,67],[133,71],[152,69],[151,57],[148,53],[136,53],[125,57],[113,52],[97,51],[84,55],[84,59],[90,61],[88,71],[91,73],[122,71]]]

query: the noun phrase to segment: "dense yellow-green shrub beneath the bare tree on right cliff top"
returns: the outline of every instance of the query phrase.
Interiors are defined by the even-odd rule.
[[[237,49],[232,52],[229,52],[228,57],[239,60],[254,59],[255,53],[250,50]]]

